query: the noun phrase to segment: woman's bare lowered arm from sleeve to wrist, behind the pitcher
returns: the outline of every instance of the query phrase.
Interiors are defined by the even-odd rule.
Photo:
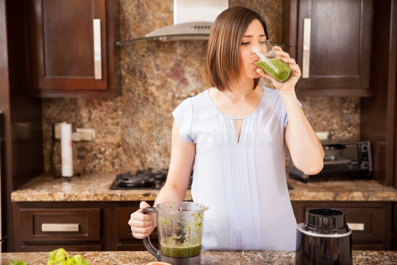
[[[168,169],[167,181],[154,201],[157,203],[182,201],[188,190],[189,178],[195,162],[196,146],[193,142],[185,142],[179,134],[176,122],[172,126],[171,161]],[[155,215],[154,215],[155,216]],[[156,218],[152,220],[154,227]]]

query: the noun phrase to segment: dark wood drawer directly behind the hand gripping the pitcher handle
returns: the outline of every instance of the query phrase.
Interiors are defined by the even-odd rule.
[[[138,208],[132,207],[118,207],[116,209],[117,218],[117,238],[119,240],[140,240],[132,236],[131,227],[128,224],[130,220],[130,215],[132,212],[136,211]],[[157,227],[154,228],[153,232],[150,234],[150,239],[157,239]]]

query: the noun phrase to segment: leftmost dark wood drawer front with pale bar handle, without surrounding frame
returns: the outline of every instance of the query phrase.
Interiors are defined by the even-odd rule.
[[[100,208],[20,209],[22,241],[100,240]],[[54,249],[54,248],[53,248]]]

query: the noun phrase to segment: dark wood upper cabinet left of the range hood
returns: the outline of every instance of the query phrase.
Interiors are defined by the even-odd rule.
[[[25,2],[29,94],[41,97],[114,94],[113,43],[117,30],[112,2]]]

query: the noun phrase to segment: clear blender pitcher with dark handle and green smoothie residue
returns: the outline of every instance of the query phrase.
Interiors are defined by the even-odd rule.
[[[143,244],[157,260],[178,264],[200,264],[201,237],[204,211],[208,207],[192,201],[159,203],[142,213],[156,213],[160,249],[150,243]]]

